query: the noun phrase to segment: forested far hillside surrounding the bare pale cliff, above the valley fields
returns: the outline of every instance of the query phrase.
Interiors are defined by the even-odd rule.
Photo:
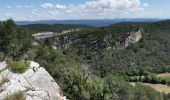
[[[128,32],[138,28],[144,30],[139,42],[129,45],[126,49],[114,50],[116,42],[124,41]],[[102,69],[106,74],[139,74],[139,70],[161,73],[169,68],[169,28],[169,21],[144,25],[113,25],[74,32],[60,38],[70,37],[70,47],[64,50],[73,51],[90,65],[100,66],[99,62],[106,64]]]

